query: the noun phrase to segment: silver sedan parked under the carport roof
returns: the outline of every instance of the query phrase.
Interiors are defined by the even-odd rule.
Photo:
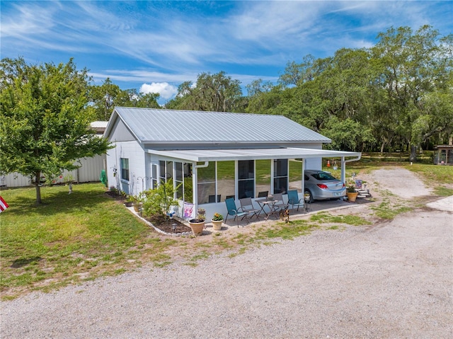
[[[309,201],[339,199],[346,195],[345,184],[331,173],[324,171],[306,170],[305,171],[305,194]]]

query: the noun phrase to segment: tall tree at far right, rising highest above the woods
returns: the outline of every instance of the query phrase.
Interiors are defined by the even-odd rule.
[[[438,36],[428,25],[415,33],[408,27],[389,28],[372,48],[381,67],[379,85],[397,134],[411,149],[411,161],[416,161],[416,148],[422,142],[452,130],[452,120],[445,120],[448,102],[453,100],[452,35]],[[432,109],[436,100],[441,100],[442,109]]]

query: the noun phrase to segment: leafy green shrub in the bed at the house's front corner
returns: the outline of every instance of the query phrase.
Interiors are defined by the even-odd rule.
[[[178,186],[179,187],[179,186]],[[176,188],[178,190],[178,188]],[[177,206],[178,200],[174,199],[175,188],[173,188],[173,180],[163,181],[157,187],[146,190],[143,193],[143,214],[149,217],[154,214],[164,214],[169,212],[171,206]]]

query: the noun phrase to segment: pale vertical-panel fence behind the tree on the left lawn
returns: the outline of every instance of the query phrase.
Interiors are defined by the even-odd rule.
[[[55,183],[63,183],[64,176],[71,174],[77,183],[100,181],[101,171],[105,166],[105,154],[93,158],[79,159],[81,167],[74,171],[63,171],[62,178],[55,178]],[[0,176],[0,185],[6,187],[24,187],[31,185],[30,178],[19,173],[9,173]]]

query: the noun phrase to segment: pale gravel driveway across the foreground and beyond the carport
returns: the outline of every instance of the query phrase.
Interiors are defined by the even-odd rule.
[[[385,171],[369,182],[426,195],[410,172],[393,184]],[[2,301],[1,338],[453,338],[452,214],[449,198],[195,268]]]

